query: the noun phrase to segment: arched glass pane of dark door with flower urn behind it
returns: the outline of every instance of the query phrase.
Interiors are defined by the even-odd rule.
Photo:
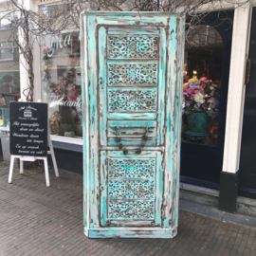
[[[223,42],[214,27],[190,29],[185,44],[182,139],[216,145]]]

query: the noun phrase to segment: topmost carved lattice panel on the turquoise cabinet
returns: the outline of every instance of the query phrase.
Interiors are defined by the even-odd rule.
[[[108,57],[123,58],[156,58],[156,36],[109,36]]]

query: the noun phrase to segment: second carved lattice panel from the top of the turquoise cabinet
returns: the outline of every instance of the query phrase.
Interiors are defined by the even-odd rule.
[[[108,85],[157,83],[157,64],[108,64]]]

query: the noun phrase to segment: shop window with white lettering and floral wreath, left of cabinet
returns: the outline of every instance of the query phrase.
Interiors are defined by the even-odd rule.
[[[51,134],[82,138],[81,51],[78,34],[42,39],[43,100],[49,103]]]

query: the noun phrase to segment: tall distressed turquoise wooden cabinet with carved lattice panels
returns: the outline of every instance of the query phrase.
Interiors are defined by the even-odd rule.
[[[177,232],[185,21],[167,12],[81,16],[84,232]]]

